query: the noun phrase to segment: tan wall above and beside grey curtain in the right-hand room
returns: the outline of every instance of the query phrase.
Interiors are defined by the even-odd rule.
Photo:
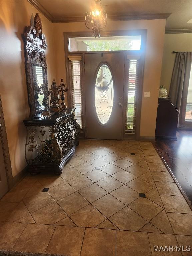
[[[191,52],[192,34],[165,34],[160,85],[163,84],[168,93],[175,61],[175,54],[172,53],[173,51]]]

